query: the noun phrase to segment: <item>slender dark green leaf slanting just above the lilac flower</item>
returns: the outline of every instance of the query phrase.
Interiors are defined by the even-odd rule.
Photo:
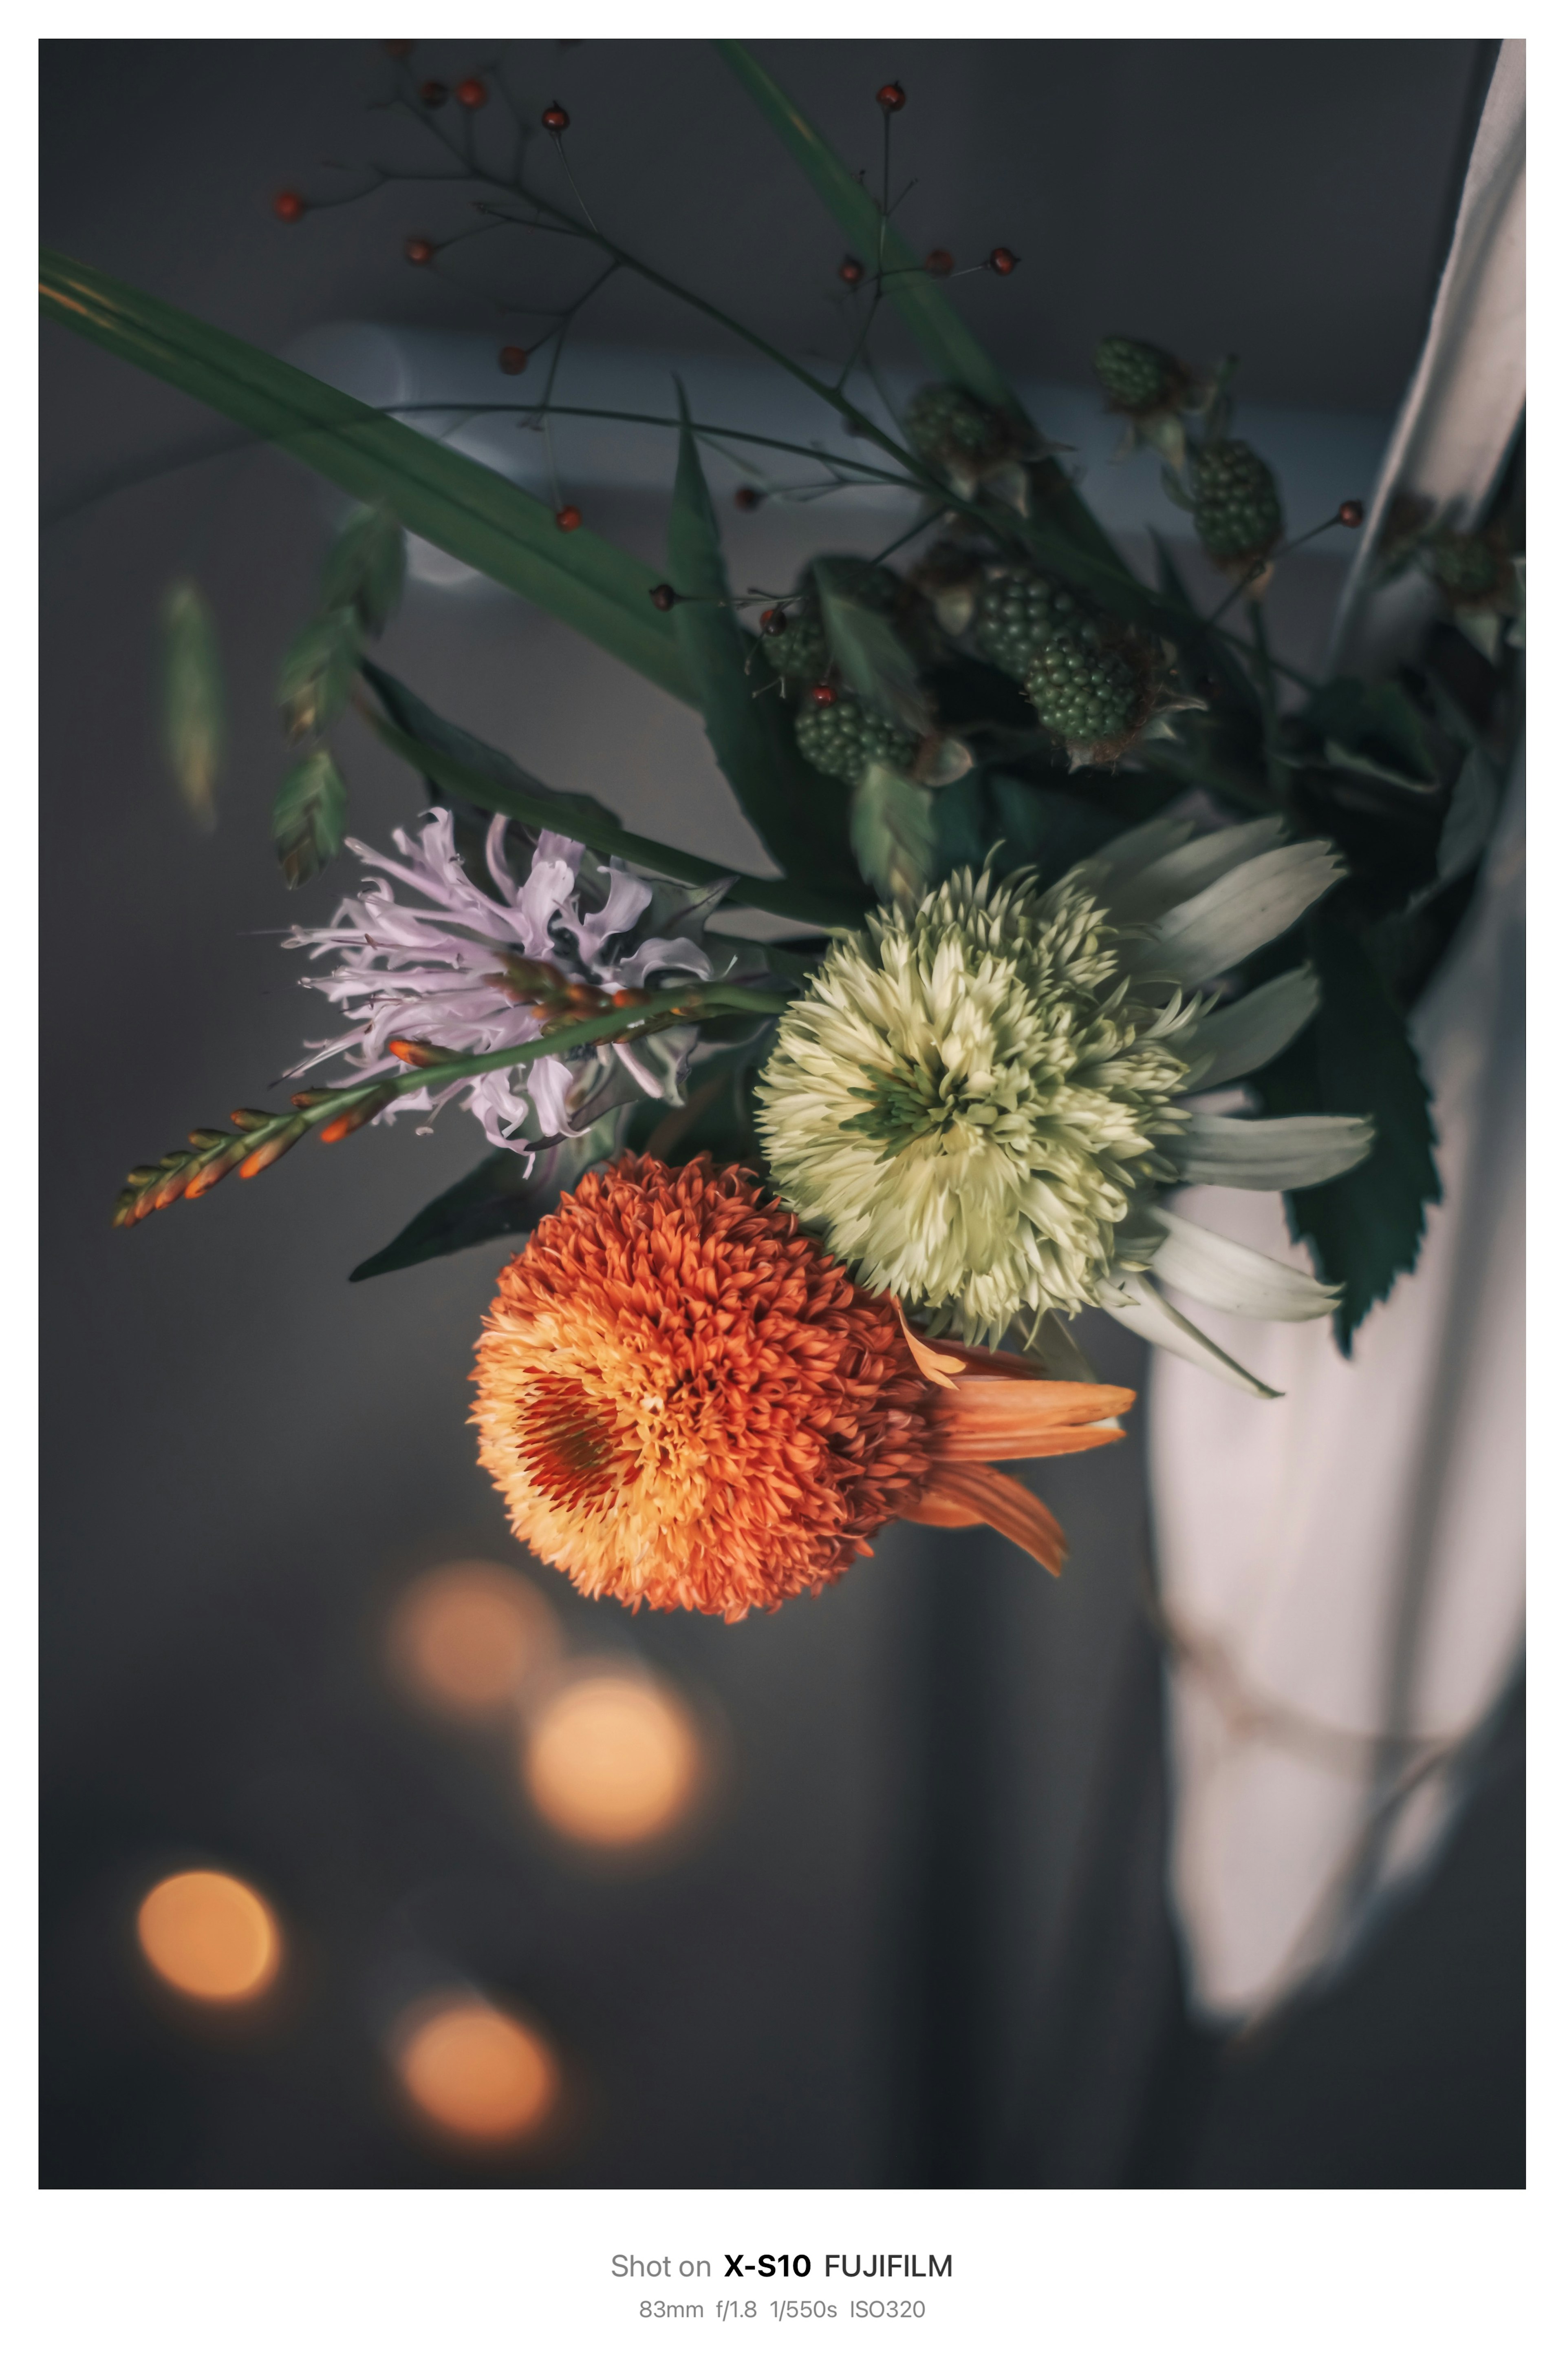
[[[369,664],[364,678],[376,690],[381,685],[397,685],[395,678]],[[407,688],[400,688],[400,695],[407,697]],[[419,704],[419,712],[423,712],[426,721],[435,716],[423,704]],[[490,754],[488,745],[464,738],[461,728],[447,728],[442,743],[473,745],[488,759],[466,759],[457,750],[423,743],[421,735],[409,735],[400,728],[392,716],[371,714],[369,724],[388,750],[397,752],[411,769],[419,769],[447,797],[473,802],[478,809],[497,809],[502,816],[518,819],[530,828],[552,828],[557,835],[590,843],[606,859],[630,859],[635,866],[647,869],[649,876],[671,876],[673,883],[706,885],[725,876],[730,878],[728,897],[733,902],[752,902],[775,916],[799,916],[821,926],[856,926],[863,921],[863,892],[856,897],[832,895],[813,883],[792,883],[783,876],[740,876],[718,859],[699,859],[694,852],[680,852],[671,843],[654,843],[652,835],[630,833],[602,802],[592,804],[592,814],[583,814],[578,804],[590,802],[592,795],[549,793],[547,788],[533,793],[530,788],[538,785],[538,778],[530,778],[526,769],[518,769],[502,752]],[[445,726],[442,721],[438,724]]]

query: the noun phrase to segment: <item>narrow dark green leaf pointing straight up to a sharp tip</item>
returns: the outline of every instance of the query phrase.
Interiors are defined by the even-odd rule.
[[[685,390],[678,381],[675,388],[680,462],[668,514],[668,576],[685,597],[673,607],[673,626],[706,738],[740,809],[778,866],[790,878],[830,888],[849,902],[856,892],[861,916],[863,892],[847,838],[842,788],[806,764],[787,700],[768,683],[756,640],[735,619],[702,450],[690,428]]]

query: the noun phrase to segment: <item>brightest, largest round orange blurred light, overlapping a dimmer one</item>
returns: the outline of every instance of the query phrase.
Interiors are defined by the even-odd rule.
[[[568,1680],[533,1718],[523,1780],[561,1835],[635,1844],[668,1833],[702,1783],[702,1747],[685,1706],[645,1678]]]

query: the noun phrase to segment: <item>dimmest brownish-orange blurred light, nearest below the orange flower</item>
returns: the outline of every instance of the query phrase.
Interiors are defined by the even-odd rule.
[[[478,1716],[514,1702],[559,1654],[538,1587],[499,1561],[445,1561],[411,1583],[392,1623],[397,1666],[442,1711]]]

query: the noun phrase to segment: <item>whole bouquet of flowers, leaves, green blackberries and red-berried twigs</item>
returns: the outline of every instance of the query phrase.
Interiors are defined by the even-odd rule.
[[[504,62],[447,90],[416,45],[383,48],[404,157],[345,193],[283,190],[276,217],[307,238],[323,205],[395,181],[450,212],[407,236],[419,271],[457,240],[573,243],[583,295],[533,347],[497,347],[502,378],[533,378],[492,412],[547,443],[573,412],[554,390],[580,307],[633,274],[718,314],[842,438],[704,421],[675,383],[654,574],[564,486],[542,502],[395,407],[45,252],[45,314],[362,507],[278,681],[285,881],[342,854],[362,871],[288,935],[333,1031],[290,1066],[285,1109],[235,1107],[138,1164],[114,1221],[250,1180],[307,1135],[464,1109],[485,1154],[354,1278],[518,1250],[478,1340],[480,1461],[583,1592],[735,1621],[818,1592],[892,1518],[989,1526],[1058,1571],[1058,1523],[1001,1466],[1118,1435],[1132,1395],[1092,1376],[1070,1330],[1087,1307],[1265,1397],[1177,1299],[1332,1314],[1349,1352],[1418,1261],[1439,1173],[1406,1016],[1496,814],[1522,612],[1506,502],[1477,531],[1391,507],[1375,569],[1432,576],[1425,657],[1306,681],[1272,652],[1268,588],[1363,502],[1289,536],[1232,431],[1232,359],[1108,336],[1094,369],[1125,450],[1156,450],[1227,593],[1201,609],[1156,538],[1156,578],[1137,576],[954,302],[963,271],[1011,283],[1023,259],[920,259],[897,228],[899,83],[873,95],[875,193],[721,43],[851,243],[847,352],[823,374],[602,231],[566,109],[523,100]],[[904,405],[878,362],[887,309],[932,376]],[[704,469],[735,447],[742,509],[873,486],[916,519],[735,590]],[[552,790],[385,671],[407,533],[690,702],[775,873]],[[164,635],[169,752],[200,807],[221,685],[193,585]],[[392,852],[347,833],[331,735],[350,704],[421,778]],[[1284,1192],[1311,1269],[1189,1221],[1180,1183]]]

